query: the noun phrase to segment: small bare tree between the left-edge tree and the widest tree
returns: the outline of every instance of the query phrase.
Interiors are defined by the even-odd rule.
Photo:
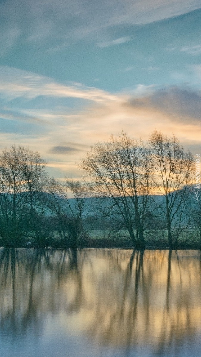
[[[84,218],[87,215],[86,186],[79,180],[65,178],[62,182],[52,177],[48,192],[51,195],[49,208],[55,218],[60,238],[70,248],[83,246],[88,237],[88,231],[84,228]],[[69,192],[73,194],[73,199],[69,198]]]

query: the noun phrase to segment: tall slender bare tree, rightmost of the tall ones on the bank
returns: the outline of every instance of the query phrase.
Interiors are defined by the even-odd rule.
[[[155,203],[166,218],[169,246],[177,248],[178,237],[190,222],[185,213],[195,170],[193,155],[184,152],[174,135],[170,138],[157,130],[149,138],[149,148],[153,183],[165,197],[164,205]]]

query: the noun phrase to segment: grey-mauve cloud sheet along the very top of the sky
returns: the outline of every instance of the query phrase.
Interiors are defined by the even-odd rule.
[[[101,32],[109,26],[147,24],[200,7],[200,0],[1,1],[0,23],[5,29],[1,54],[18,41],[23,44],[53,41],[53,48],[59,46],[62,50],[63,44]]]

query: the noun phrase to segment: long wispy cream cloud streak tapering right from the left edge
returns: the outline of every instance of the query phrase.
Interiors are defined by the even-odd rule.
[[[51,78],[7,66],[0,66],[0,96],[8,100],[17,97],[33,99],[38,96],[49,96],[73,97],[95,102],[118,101],[117,96],[101,89],[87,87],[80,83],[70,83],[66,86]]]

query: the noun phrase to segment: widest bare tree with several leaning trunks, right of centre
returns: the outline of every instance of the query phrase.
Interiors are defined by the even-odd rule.
[[[91,182],[93,195],[102,197],[100,211],[123,224],[136,248],[145,248],[151,166],[142,142],[124,132],[117,139],[97,143],[80,167]]]

